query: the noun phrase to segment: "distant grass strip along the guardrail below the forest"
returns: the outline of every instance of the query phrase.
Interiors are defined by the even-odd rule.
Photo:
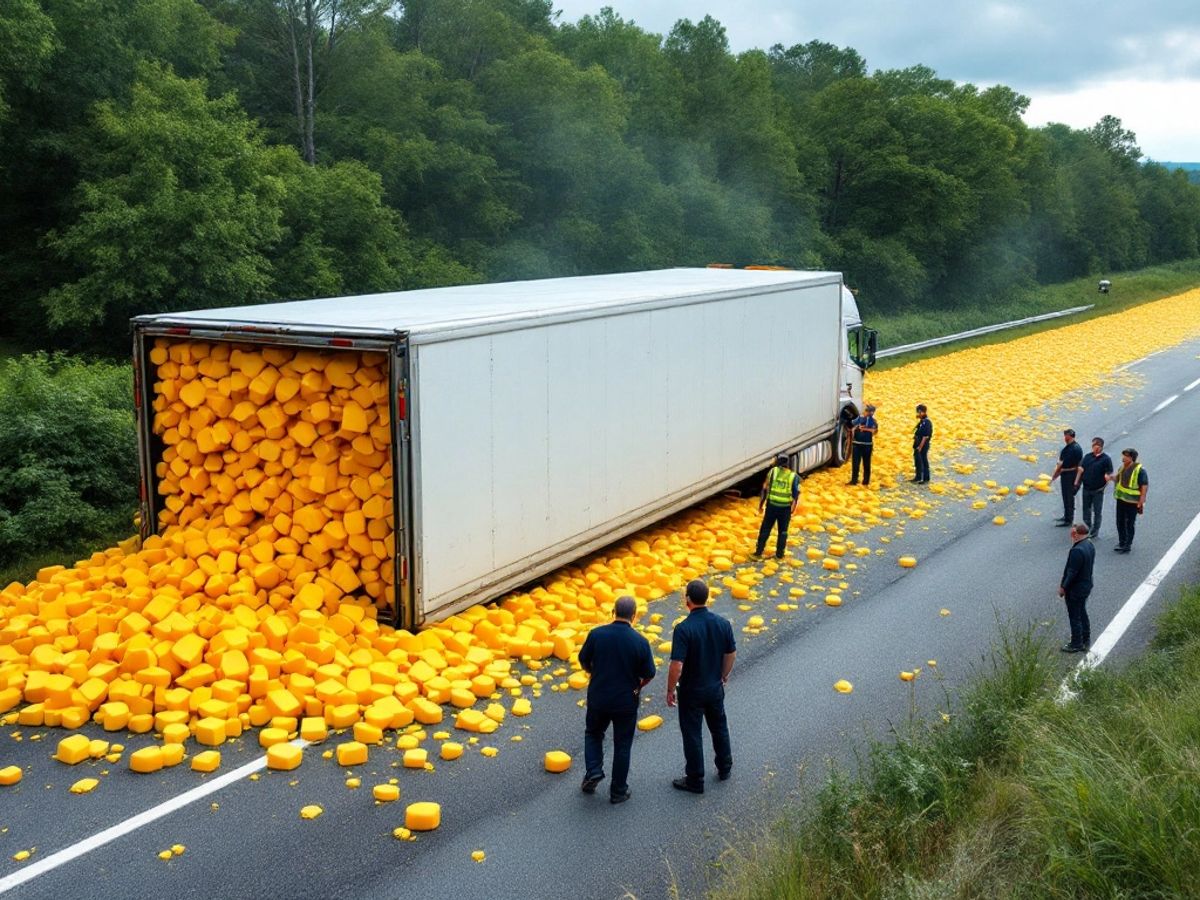
[[[899,347],[900,344],[926,341],[960,331],[995,325],[1001,322],[1014,322],[1030,316],[1039,316],[1058,310],[1092,304],[1087,312],[1067,319],[1049,319],[1007,331],[994,332],[982,337],[962,341],[929,350],[906,353],[902,356],[882,359],[876,366],[882,371],[894,366],[907,365],[928,356],[940,356],[967,347],[979,347],[989,343],[1002,343],[1014,337],[1061,328],[1073,322],[1082,322],[1097,316],[1109,316],[1139,304],[1160,300],[1164,296],[1178,294],[1200,286],[1200,259],[1188,259],[1169,265],[1140,269],[1111,276],[1112,289],[1102,294],[1096,286],[1098,276],[1076,278],[1061,284],[1046,284],[1021,293],[1007,304],[971,307],[965,310],[918,310],[899,314],[876,316],[864,310],[866,323],[880,332],[880,348]]]

